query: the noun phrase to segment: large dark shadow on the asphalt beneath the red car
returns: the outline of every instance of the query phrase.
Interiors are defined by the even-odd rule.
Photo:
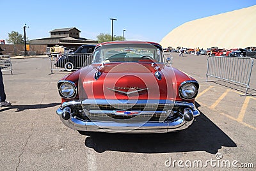
[[[90,133],[85,138],[84,145],[97,152],[166,153],[206,151],[211,154],[216,154],[218,149],[223,146],[237,147],[236,143],[202,112],[186,130],[155,134]]]

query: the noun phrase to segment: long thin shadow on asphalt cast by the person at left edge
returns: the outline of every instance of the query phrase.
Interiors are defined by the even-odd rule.
[[[13,108],[17,109],[15,112],[21,112],[23,110],[28,110],[28,109],[40,109],[40,108],[55,107],[60,104],[61,103],[49,103],[49,104],[38,104],[38,105],[11,105],[9,107],[2,107],[0,109],[0,112],[4,112],[6,110],[10,110]]]

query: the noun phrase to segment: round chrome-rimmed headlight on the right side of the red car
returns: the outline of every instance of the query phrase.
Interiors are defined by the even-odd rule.
[[[197,87],[193,83],[185,83],[180,87],[181,98],[191,99],[195,98],[197,94]]]

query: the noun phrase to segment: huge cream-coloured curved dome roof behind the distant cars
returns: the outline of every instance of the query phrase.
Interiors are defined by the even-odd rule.
[[[245,48],[256,45],[256,5],[186,22],[161,40],[163,47]]]

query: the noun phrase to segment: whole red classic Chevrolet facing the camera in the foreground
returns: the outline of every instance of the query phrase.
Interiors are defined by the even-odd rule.
[[[58,82],[56,113],[83,133],[179,131],[200,114],[198,88],[194,78],[172,68],[157,43],[105,42],[95,47],[92,64]]]

